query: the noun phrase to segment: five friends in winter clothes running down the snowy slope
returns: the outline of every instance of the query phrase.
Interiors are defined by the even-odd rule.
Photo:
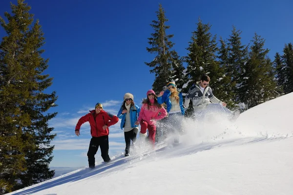
[[[174,143],[179,143],[180,132],[182,132],[182,120],[185,109],[188,108],[190,100],[194,110],[195,118],[204,117],[209,112],[220,112],[229,119],[239,116],[238,110],[230,111],[226,108],[226,103],[217,99],[209,87],[210,78],[203,75],[201,80],[190,87],[188,94],[183,101],[182,93],[177,91],[175,82],[168,82],[166,90],[156,93],[153,90],[146,92],[141,108],[134,103],[133,95],[126,93],[124,101],[117,114],[111,115],[103,110],[103,105],[97,103],[95,110],[81,117],[75,127],[75,134],[80,136],[81,125],[85,122],[90,124],[91,140],[87,152],[89,168],[95,167],[95,155],[100,146],[101,156],[105,162],[110,161],[109,151],[109,127],[116,124],[121,118],[121,129],[124,130],[126,149],[125,156],[129,156],[131,141],[136,142],[136,137],[140,128],[140,139],[148,141],[152,147],[155,145],[155,135],[157,122],[165,120],[167,131],[174,136]],[[148,130],[148,138],[147,132]]]

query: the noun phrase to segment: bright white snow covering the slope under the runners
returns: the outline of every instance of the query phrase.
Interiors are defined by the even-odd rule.
[[[292,195],[292,99],[253,107],[235,123],[187,121],[177,146],[169,138],[9,195]]]

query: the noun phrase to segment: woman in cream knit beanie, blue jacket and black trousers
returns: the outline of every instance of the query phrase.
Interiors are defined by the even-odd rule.
[[[117,114],[117,117],[121,118],[121,129],[124,128],[124,138],[126,143],[125,156],[129,156],[130,141],[132,144],[136,141],[136,135],[138,132],[138,125],[134,123],[138,119],[140,108],[134,104],[133,95],[126,93],[124,95],[124,101]]]

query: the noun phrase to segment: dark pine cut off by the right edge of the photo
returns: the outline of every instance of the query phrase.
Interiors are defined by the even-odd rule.
[[[282,61],[284,64],[284,92],[289,94],[293,92],[293,44],[286,44],[284,47]]]

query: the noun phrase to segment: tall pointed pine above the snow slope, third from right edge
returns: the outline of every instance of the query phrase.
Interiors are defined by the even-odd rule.
[[[249,60],[244,66],[243,81],[239,92],[243,94],[241,101],[248,108],[266,102],[277,96],[276,83],[272,61],[264,49],[265,40],[257,34],[254,35],[249,53]]]

